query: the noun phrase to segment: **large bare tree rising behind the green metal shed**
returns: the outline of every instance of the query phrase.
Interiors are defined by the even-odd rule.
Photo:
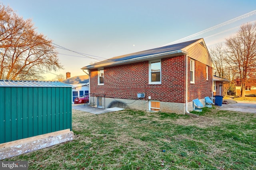
[[[52,40],[37,33],[31,20],[0,5],[0,79],[42,80],[44,70],[62,68]]]

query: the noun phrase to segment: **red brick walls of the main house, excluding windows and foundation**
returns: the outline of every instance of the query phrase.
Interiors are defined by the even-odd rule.
[[[185,61],[186,56],[162,59],[161,84],[148,84],[148,61],[104,67],[104,85],[102,86],[98,85],[98,70],[90,70],[90,93],[126,99],[138,99],[137,93],[145,93],[144,100],[148,100],[148,96],[151,96],[151,100],[184,103]],[[188,60],[188,70],[190,70],[189,64],[190,60]],[[199,67],[203,68],[197,70]],[[212,68],[210,66],[208,72],[209,80],[206,81],[206,65],[195,61],[195,84],[190,84],[190,72],[188,72],[189,101],[211,96]]]

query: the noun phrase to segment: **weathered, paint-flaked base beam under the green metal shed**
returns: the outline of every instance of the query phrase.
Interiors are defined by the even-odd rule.
[[[8,143],[2,143],[0,144],[0,160],[72,141],[73,139],[73,131],[66,129]]]

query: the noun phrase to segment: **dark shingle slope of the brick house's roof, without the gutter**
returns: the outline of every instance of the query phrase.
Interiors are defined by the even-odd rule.
[[[106,59],[104,61],[100,61],[98,63],[94,63],[91,65],[85,66],[81,69],[97,68],[97,66],[100,66],[100,65],[111,65],[111,63],[118,63],[118,62],[122,62],[122,61],[124,62],[124,61],[132,60],[132,59],[139,59],[140,57],[147,57],[147,56],[158,55],[158,54],[162,54],[162,53],[171,53],[171,52],[175,52],[175,51],[180,51],[180,50],[184,49],[185,47],[191,45],[192,43],[195,43],[198,40],[199,39],[195,39],[195,40],[186,41],[183,43],[168,45],[168,46],[164,46],[164,47],[158,47],[155,49],[149,49],[149,50],[131,53],[131,54],[127,54],[127,55],[121,55],[118,57],[113,57],[110,59]]]

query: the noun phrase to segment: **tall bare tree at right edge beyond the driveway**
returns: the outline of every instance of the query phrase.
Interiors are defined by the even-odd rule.
[[[256,70],[256,22],[242,25],[233,37],[226,39],[227,61],[238,70],[241,96],[245,96],[246,81]]]

